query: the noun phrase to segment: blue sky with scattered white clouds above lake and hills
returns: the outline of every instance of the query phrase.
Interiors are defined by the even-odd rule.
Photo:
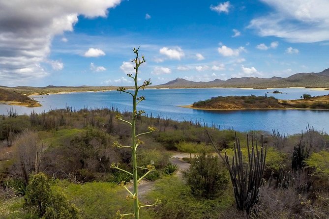
[[[0,85],[161,84],[329,68],[328,0],[0,0]]]

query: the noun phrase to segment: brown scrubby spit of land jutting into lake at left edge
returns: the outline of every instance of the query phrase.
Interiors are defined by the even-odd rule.
[[[0,88],[0,103],[24,107],[41,107],[41,104],[29,96]]]

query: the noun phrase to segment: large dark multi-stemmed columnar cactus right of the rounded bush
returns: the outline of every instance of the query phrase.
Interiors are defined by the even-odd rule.
[[[207,131],[209,136],[209,133]],[[209,136],[210,138],[210,136]],[[263,145],[263,136],[261,136],[262,147],[258,150],[257,140],[251,136],[251,148],[249,145],[249,137],[247,135],[248,162],[244,163],[240,146],[240,139],[235,135],[234,156],[232,164],[226,155],[220,154],[215,144],[210,138],[219,157],[224,161],[229,170],[231,182],[234,189],[234,196],[237,208],[247,213],[250,212],[252,206],[259,200],[260,187],[264,184],[263,173],[266,161],[267,145]],[[255,142],[255,143],[254,143]]]

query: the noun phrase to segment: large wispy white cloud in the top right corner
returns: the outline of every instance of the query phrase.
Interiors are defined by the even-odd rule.
[[[276,36],[295,43],[329,40],[328,0],[261,0],[273,8],[267,16],[251,20],[260,36]]]

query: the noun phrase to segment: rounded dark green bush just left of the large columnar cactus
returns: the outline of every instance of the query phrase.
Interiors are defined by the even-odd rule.
[[[206,153],[192,160],[189,170],[183,171],[183,177],[194,196],[208,199],[218,197],[228,183],[227,171],[218,157]]]

